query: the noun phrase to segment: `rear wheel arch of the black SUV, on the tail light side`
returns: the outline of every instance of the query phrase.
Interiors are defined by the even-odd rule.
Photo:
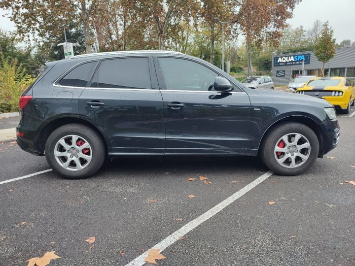
[[[106,144],[105,149],[107,150],[107,139],[106,139],[106,135],[103,133],[103,131],[101,129],[99,129],[98,127],[96,127],[93,123],[82,119],[80,117],[60,117],[57,119],[54,119],[52,121],[50,121],[39,133],[38,135],[38,139],[37,139],[37,145],[38,145],[38,151],[40,154],[44,153],[44,147],[46,144],[46,141],[49,137],[49,135],[55,131],[56,129],[58,129],[61,126],[64,125],[68,125],[68,124],[81,124],[87,127],[90,127],[91,129],[93,129],[96,133],[98,133],[98,135],[101,137],[101,139],[104,141],[104,143]]]

